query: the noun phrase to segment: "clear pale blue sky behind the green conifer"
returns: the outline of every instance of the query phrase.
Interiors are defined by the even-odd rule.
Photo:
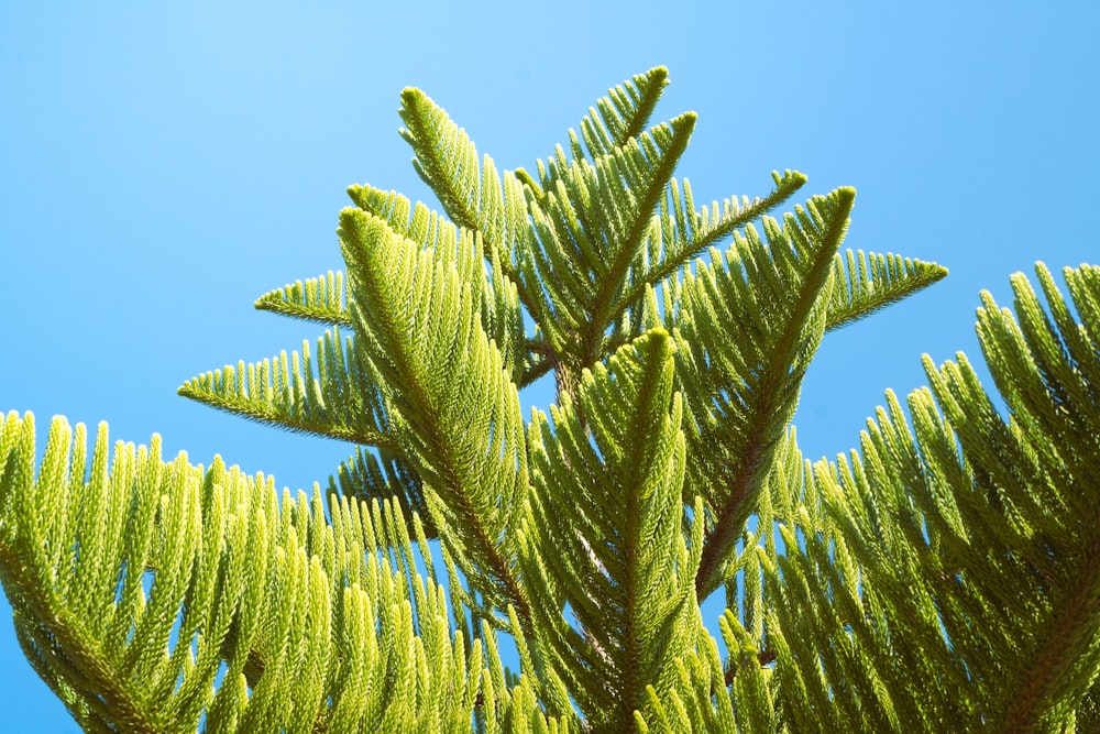
[[[252,302],[342,266],[353,183],[436,206],[398,138],[417,86],[502,168],[566,140],[607,87],[656,65],[654,120],[693,109],[696,199],[858,191],[846,247],[936,261],[947,281],[824,342],[795,424],[810,457],[856,445],[922,353],[978,357],[981,288],[1100,263],[1100,4],[485,2],[0,3],[0,410],[166,456],[221,453],[279,485],[352,448],[177,397],[200,372],[298,349],[317,327]],[[524,395],[544,406],[547,390]],[[0,606],[10,732],[76,732]]]

